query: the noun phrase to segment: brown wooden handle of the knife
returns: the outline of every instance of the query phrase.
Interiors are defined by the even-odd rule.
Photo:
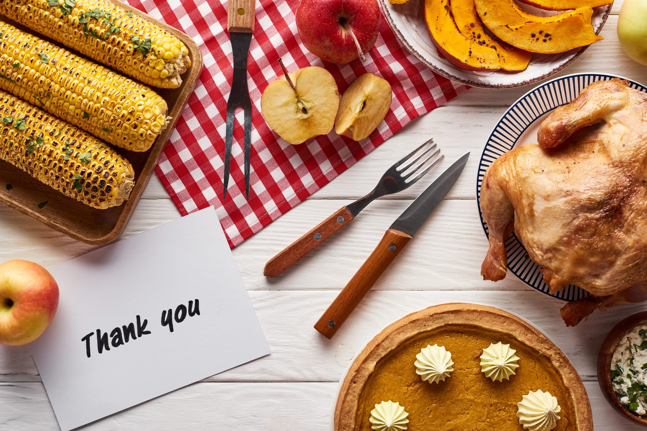
[[[375,247],[364,265],[337,295],[319,321],[314,324],[314,329],[320,331],[327,339],[331,339],[410,240],[411,237],[406,233],[393,229],[386,231],[380,244]]]

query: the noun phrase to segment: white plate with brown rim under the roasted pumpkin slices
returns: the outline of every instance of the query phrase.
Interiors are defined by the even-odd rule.
[[[452,79],[472,87],[486,89],[508,89],[523,87],[553,76],[588,48],[580,47],[560,54],[533,54],[526,70],[521,72],[505,72],[503,70],[483,70],[471,72],[452,65],[441,58],[433,45],[424,22],[424,0],[409,0],[400,5],[391,5],[389,0],[380,0],[384,17],[395,32],[395,36],[410,52],[426,67],[445,78]],[[537,16],[549,16],[556,12],[542,10],[524,3],[518,3],[526,12]],[[600,34],[602,26],[611,12],[611,5],[595,8],[591,19],[595,34]]]

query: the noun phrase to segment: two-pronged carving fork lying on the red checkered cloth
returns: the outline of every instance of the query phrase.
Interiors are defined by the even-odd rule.
[[[225,134],[225,176],[223,178],[223,201],[229,184],[229,165],[234,137],[234,112],[236,107],[245,111],[245,196],[249,200],[249,164],[252,150],[252,101],[247,87],[247,56],[254,32],[254,0],[229,0],[227,5],[227,31],[232,41],[234,78],[232,91],[227,100],[227,128]]]

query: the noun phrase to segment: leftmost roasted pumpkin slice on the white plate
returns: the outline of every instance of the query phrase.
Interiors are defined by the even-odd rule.
[[[496,50],[471,41],[458,31],[449,0],[424,0],[424,21],[438,52],[464,70],[497,70]]]

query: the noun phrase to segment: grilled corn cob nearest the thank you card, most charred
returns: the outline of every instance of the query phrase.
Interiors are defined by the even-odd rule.
[[[98,209],[121,205],[132,165],[107,144],[0,90],[0,159]]]

